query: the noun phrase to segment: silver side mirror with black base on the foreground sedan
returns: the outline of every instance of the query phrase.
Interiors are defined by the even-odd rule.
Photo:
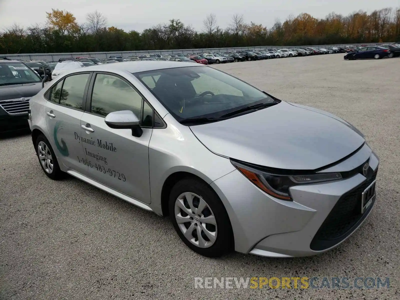
[[[132,136],[140,137],[143,134],[143,130],[140,128],[140,119],[130,110],[110,112],[104,122],[110,128],[131,129]]]

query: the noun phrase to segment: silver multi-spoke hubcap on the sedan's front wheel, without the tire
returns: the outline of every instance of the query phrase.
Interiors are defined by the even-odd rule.
[[[217,224],[210,206],[200,196],[186,192],[175,201],[175,218],[186,239],[199,248],[212,246]]]

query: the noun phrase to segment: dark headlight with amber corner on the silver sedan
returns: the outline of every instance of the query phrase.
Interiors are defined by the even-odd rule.
[[[293,201],[289,188],[300,184],[326,182],[342,179],[340,173],[321,173],[309,175],[280,175],[272,174],[245,166],[231,160],[231,163],[253,184],[268,195],[280,200]]]

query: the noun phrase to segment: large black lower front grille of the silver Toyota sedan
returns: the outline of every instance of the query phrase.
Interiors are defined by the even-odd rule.
[[[377,171],[378,169],[370,178],[338,200],[314,236],[310,244],[312,250],[320,251],[338,244],[351,234],[359,222],[364,220],[373,205],[361,214],[362,192],[376,179]]]

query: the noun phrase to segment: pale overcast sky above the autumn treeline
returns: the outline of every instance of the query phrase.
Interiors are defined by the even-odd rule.
[[[142,31],[172,18],[201,30],[211,12],[223,28],[234,14],[243,14],[245,22],[270,28],[276,18],[284,21],[288,15],[301,12],[324,18],[330,12],[347,15],[360,9],[372,12],[398,6],[400,0],[0,0],[0,31],[14,23],[24,27],[44,24],[46,12],[52,8],[68,10],[78,23],[85,22],[88,12],[98,10],[107,17],[109,27]]]

